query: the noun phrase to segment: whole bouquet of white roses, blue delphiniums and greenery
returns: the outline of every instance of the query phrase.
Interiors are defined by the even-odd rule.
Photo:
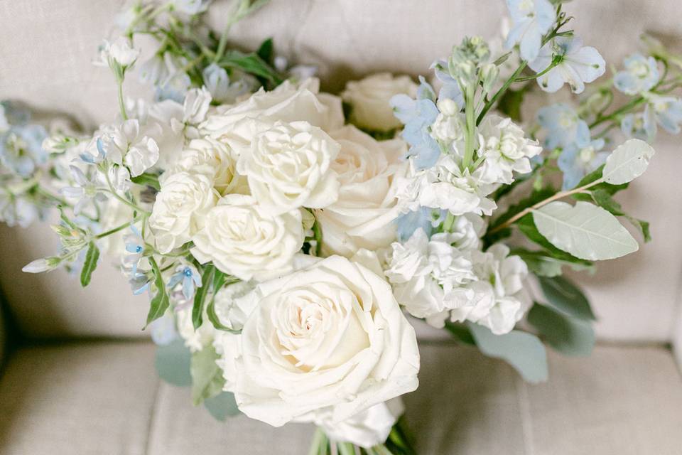
[[[507,0],[504,38],[465,38],[433,77],[332,95],[270,39],[230,48],[267,2],[233,3],[222,34],[207,1],[121,13],[97,60],[119,115],[94,132],[3,102],[0,219],[59,215],[60,250],[25,272],[65,266],[87,286],[100,252],[118,258],[150,297],[162,377],[220,419],[313,422],[311,454],[413,453],[416,319],[531,382],[546,345],[590,352],[595,316],[562,274],[637,251],[623,223],[649,240],[613,196],[659,126],[680,132],[682,58],[644,36],[605,77],[560,0]],[[146,100],[124,94],[134,70]],[[521,121],[525,99],[559,90],[583,95]]]

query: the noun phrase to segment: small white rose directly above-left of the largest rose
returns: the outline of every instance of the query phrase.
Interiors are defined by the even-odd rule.
[[[208,211],[192,240],[192,255],[239,279],[286,274],[303,246],[301,211],[270,216],[251,196],[229,194]]]

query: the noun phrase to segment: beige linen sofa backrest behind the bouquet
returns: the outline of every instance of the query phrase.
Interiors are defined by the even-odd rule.
[[[0,1],[0,99],[70,114],[87,128],[110,121],[117,109],[114,80],[91,62],[101,39],[115,36],[114,14],[125,3]],[[215,30],[222,29],[230,4],[215,0],[208,16]],[[621,65],[637,49],[642,31],[673,38],[668,41],[673,48],[680,43],[678,6],[676,0],[575,0],[565,10],[577,16],[572,26],[586,45],[600,50],[608,64]],[[503,11],[502,0],[273,0],[234,26],[231,39],[254,49],[272,36],[278,54],[317,65],[323,89],[336,92],[347,80],[381,70],[428,74],[431,62],[448,55],[462,37],[497,36]],[[148,95],[136,73],[126,80],[125,92]],[[677,338],[682,344],[679,141],[660,133],[649,171],[619,195],[630,213],[651,222],[653,241],[634,255],[602,264],[593,276],[580,277],[600,319],[602,339]],[[146,335],[140,328],[147,296],[132,296],[109,259],[100,260],[87,289],[61,270],[21,272],[31,259],[56,247],[47,224],[0,228],[0,285],[24,332],[36,337]]]

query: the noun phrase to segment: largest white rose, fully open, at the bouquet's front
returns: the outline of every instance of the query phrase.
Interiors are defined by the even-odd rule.
[[[234,389],[244,414],[337,424],[416,389],[414,330],[374,262],[332,256],[256,288]]]

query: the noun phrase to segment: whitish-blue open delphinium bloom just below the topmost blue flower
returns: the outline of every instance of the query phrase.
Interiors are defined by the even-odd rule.
[[[556,92],[568,83],[573,93],[582,93],[585,82],[592,82],[604,74],[606,62],[597,49],[583,46],[577,36],[558,36],[540,49],[529,67],[536,73],[549,68],[554,58],[560,63],[537,78],[538,85],[545,92]]]

